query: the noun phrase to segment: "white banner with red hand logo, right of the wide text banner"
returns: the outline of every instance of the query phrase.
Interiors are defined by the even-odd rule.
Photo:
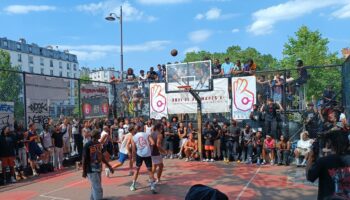
[[[232,78],[232,117],[249,119],[253,105],[256,103],[255,76]]]

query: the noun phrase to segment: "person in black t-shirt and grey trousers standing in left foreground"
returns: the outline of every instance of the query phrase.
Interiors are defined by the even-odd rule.
[[[98,141],[100,139],[99,131],[93,130],[91,138],[91,141],[88,141],[83,149],[83,177],[88,177],[91,184],[90,199],[99,200],[103,198],[101,184],[102,163],[106,164],[111,173],[114,171],[103,156],[102,144]]]

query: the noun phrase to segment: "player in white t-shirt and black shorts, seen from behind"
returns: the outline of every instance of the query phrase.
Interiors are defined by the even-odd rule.
[[[136,190],[136,180],[140,172],[140,168],[142,163],[144,162],[148,173],[149,179],[151,181],[151,191],[153,194],[156,194],[156,184],[154,181],[154,174],[152,171],[152,157],[151,157],[151,146],[154,145],[154,140],[152,139],[150,134],[142,132],[143,127],[136,125],[137,133],[133,136],[131,140],[132,153],[133,157],[136,160],[136,173],[134,174],[134,178],[132,184],[130,186],[131,191]]]

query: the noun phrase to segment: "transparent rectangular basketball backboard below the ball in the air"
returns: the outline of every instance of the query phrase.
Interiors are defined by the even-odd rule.
[[[166,65],[166,92],[183,92],[178,86],[191,86],[193,91],[212,91],[211,61]]]

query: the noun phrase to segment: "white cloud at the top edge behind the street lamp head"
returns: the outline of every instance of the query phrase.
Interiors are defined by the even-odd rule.
[[[81,12],[88,12],[93,15],[102,14],[104,17],[109,13],[116,13],[119,15],[120,6],[123,7],[123,20],[125,21],[138,21],[144,20],[148,22],[153,22],[157,20],[156,17],[146,15],[143,11],[138,10],[133,7],[129,2],[121,3],[119,0],[108,0],[101,1],[98,3],[82,4],[78,5],[76,8]]]

